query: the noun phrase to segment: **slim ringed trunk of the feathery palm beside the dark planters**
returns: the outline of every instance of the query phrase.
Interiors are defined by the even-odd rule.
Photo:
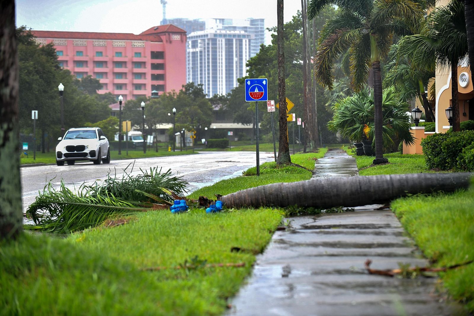
[[[375,41],[375,33],[370,34],[372,73],[374,78],[374,118],[375,118],[375,159],[374,164],[388,163],[383,158],[382,138],[382,76],[380,73],[380,51]]]

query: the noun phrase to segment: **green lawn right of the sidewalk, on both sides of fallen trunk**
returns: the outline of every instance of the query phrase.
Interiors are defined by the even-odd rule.
[[[354,154],[352,149],[347,152]],[[374,157],[354,157],[360,175],[433,172],[427,169],[425,157],[419,154],[384,154],[389,164],[371,167]],[[391,206],[434,266],[474,259],[474,183],[468,191],[406,197],[392,201]],[[474,264],[439,275],[448,293],[474,313]]]

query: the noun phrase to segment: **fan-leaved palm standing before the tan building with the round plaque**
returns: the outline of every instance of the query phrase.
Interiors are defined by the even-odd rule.
[[[405,36],[399,45],[399,55],[409,55],[412,64],[418,69],[432,55],[439,65],[451,67],[453,131],[459,131],[457,65],[466,57],[468,50],[464,3],[451,1],[447,6],[434,9],[428,16],[426,29],[422,34]]]

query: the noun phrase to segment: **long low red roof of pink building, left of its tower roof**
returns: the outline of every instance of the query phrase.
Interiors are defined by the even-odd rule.
[[[135,35],[132,33],[99,33],[99,32],[66,32],[66,31],[35,31],[31,33],[39,38],[71,38],[71,39],[109,39],[163,42],[159,35]]]

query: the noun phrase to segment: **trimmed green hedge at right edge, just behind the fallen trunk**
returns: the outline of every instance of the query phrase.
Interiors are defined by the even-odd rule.
[[[473,171],[474,131],[441,133],[421,140],[428,169]]]

